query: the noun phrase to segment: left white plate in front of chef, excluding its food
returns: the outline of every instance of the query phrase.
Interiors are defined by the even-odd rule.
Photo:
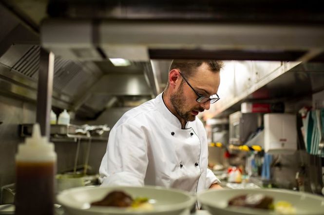
[[[133,198],[146,197],[153,204],[153,211],[130,211],[116,207],[90,206],[91,202],[101,200],[109,192],[121,190]],[[186,213],[195,204],[195,198],[189,193],[162,187],[78,187],[63,191],[57,196],[69,215],[179,215]]]

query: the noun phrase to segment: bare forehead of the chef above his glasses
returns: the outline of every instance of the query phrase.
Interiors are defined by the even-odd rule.
[[[195,89],[201,89],[203,92],[207,91],[208,94],[212,95],[217,93],[220,77],[219,72],[213,72],[210,70],[206,63],[199,66],[192,76],[189,78]]]

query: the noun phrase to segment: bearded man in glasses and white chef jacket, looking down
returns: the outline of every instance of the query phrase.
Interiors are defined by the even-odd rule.
[[[219,97],[221,61],[173,60],[163,93],[126,112],[110,132],[102,185],[157,185],[196,193],[218,188],[196,117]]]

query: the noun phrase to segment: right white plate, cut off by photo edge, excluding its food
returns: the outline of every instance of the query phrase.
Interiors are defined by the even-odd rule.
[[[239,195],[260,193],[277,201],[287,201],[296,208],[296,215],[324,215],[324,198],[304,192],[284,189],[220,189],[209,190],[197,195],[203,209],[212,215],[276,215],[272,210],[228,207],[228,201]]]

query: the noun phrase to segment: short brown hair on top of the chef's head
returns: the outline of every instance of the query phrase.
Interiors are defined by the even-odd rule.
[[[172,69],[180,69],[181,73],[185,77],[191,77],[192,73],[196,68],[201,66],[203,63],[206,63],[210,70],[213,72],[219,72],[223,68],[223,62],[217,60],[173,60],[169,71]]]

